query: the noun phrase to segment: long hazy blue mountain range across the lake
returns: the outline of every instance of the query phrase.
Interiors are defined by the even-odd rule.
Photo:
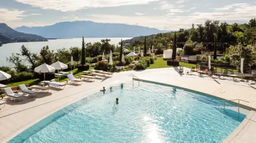
[[[125,38],[166,33],[167,30],[115,23],[97,23],[93,21],[60,22],[43,27],[21,26],[18,32],[37,34],[46,38]]]

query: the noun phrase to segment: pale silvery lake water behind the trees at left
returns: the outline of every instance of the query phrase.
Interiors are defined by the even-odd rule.
[[[101,42],[101,39],[106,38],[84,38],[85,43],[88,42]],[[121,38],[108,38],[110,39],[110,44],[118,44]],[[122,38],[123,40],[130,38]],[[57,39],[49,40],[47,42],[19,42],[19,43],[8,43],[0,47],[0,66],[11,66],[11,63],[6,62],[6,57],[9,57],[13,52],[20,53],[21,46],[25,45],[31,50],[31,52],[39,53],[43,46],[48,45],[50,50],[56,50],[60,48],[70,48],[78,46],[81,48],[82,38],[73,39]]]

